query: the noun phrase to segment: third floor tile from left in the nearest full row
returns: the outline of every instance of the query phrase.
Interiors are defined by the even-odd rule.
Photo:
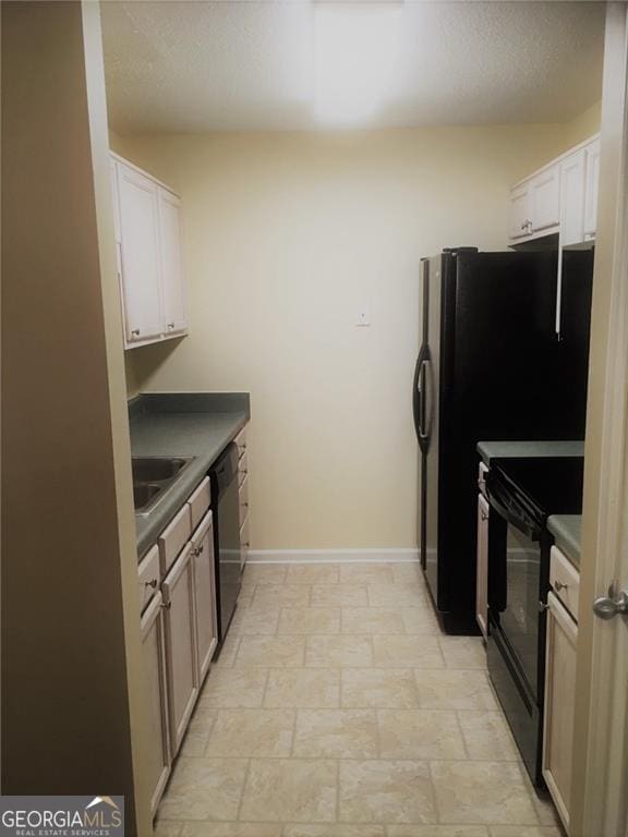
[[[436,811],[423,762],[339,762],[339,818],[345,822],[433,823]]]

